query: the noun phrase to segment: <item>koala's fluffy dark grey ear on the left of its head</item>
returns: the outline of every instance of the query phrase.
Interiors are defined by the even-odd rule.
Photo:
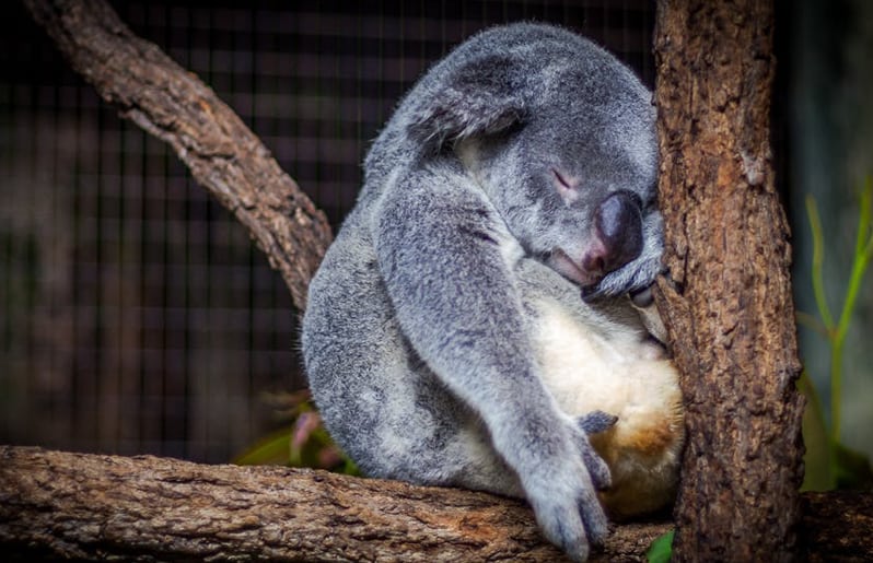
[[[512,61],[491,55],[461,64],[416,99],[409,134],[428,152],[446,142],[493,134],[524,119]]]

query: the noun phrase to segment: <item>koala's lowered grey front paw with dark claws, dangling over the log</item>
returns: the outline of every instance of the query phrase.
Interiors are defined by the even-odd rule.
[[[608,533],[608,520],[596,491],[609,486],[609,469],[581,432],[579,457],[544,459],[535,476],[525,481],[527,500],[549,541],[573,561],[585,561],[592,544]]]

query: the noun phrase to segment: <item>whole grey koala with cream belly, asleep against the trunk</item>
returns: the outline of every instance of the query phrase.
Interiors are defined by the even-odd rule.
[[[629,297],[662,269],[654,122],[629,69],[531,23],[475,35],[400,102],[302,326],[364,473],[525,497],[577,561],[607,512],[671,502],[676,373]]]

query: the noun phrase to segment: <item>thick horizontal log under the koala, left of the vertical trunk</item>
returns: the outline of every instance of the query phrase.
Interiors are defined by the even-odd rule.
[[[592,561],[644,561],[670,524]],[[126,561],[564,561],[523,503],[325,471],[0,447],[0,552]]]

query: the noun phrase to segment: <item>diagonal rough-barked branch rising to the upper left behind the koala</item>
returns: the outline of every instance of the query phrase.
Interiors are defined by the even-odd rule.
[[[166,141],[193,176],[247,228],[302,310],[327,245],[324,213],[216,93],[106,2],[24,0],[72,68],[121,116]]]

